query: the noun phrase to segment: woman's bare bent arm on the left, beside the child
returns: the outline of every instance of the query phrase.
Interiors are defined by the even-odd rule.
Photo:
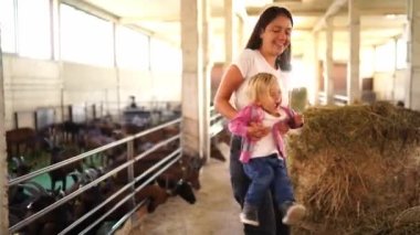
[[[244,78],[238,66],[230,65],[227,73],[222,77],[222,81],[220,82],[218,92],[216,93],[214,108],[229,120],[238,114],[238,110],[232,107],[229,100],[232,97],[234,90],[237,90],[243,82]]]

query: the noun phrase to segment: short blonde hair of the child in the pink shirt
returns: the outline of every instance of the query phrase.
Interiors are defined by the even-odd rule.
[[[253,103],[258,102],[262,96],[269,95],[270,88],[276,83],[277,78],[273,74],[258,73],[248,82],[248,97]]]

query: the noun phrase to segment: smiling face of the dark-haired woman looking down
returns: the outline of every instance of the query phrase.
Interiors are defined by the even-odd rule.
[[[285,15],[276,17],[260,34],[261,51],[264,54],[277,56],[291,44],[292,22]]]

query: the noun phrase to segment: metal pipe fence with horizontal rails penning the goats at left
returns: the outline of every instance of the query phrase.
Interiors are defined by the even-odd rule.
[[[128,183],[127,184],[125,184],[120,190],[118,190],[113,195],[111,195],[108,199],[106,199],[103,203],[101,203],[99,205],[97,205],[96,207],[94,207],[93,210],[91,210],[84,216],[80,217],[73,224],[69,225],[60,234],[67,234],[67,233],[70,233],[72,228],[74,228],[76,225],[78,225],[80,223],[82,223],[83,221],[85,221],[87,217],[90,217],[92,214],[94,214],[95,212],[97,212],[105,204],[107,204],[108,202],[111,202],[116,196],[120,195],[124,191],[126,191],[128,189],[132,189],[132,192],[128,195],[126,195],[120,202],[118,202],[116,205],[114,205],[113,209],[111,209],[103,216],[101,216],[98,220],[96,220],[94,223],[92,223],[88,227],[86,227],[81,234],[87,233],[90,229],[92,229],[95,225],[97,225],[98,223],[101,223],[107,215],[109,215],[111,213],[113,213],[117,207],[119,207],[120,205],[123,205],[125,202],[127,202],[128,200],[133,200],[134,201],[135,193],[139,192],[145,185],[147,185],[150,181],[155,180],[159,174],[161,174],[166,169],[168,169],[170,165],[172,165],[174,163],[176,163],[181,158],[181,148],[178,148],[175,151],[172,151],[171,153],[169,153],[168,156],[166,156],[165,158],[162,158],[159,162],[157,162],[156,164],[154,164],[153,167],[150,167],[144,173],[141,173],[140,175],[134,178],[134,175],[133,175],[134,163],[136,161],[138,161],[141,158],[146,157],[147,154],[154,152],[158,148],[160,148],[160,147],[162,147],[165,145],[168,145],[169,142],[177,141],[177,140],[180,141],[180,133],[178,133],[178,135],[176,135],[174,137],[170,137],[170,138],[168,138],[166,140],[162,140],[160,142],[156,143],[153,148],[150,148],[150,149],[141,152],[138,156],[134,156],[134,150],[133,150],[134,149],[133,148],[134,147],[134,140],[137,139],[137,138],[139,138],[139,137],[146,136],[146,135],[148,135],[150,132],[154,132],[154,131],[157,131],[159,129],[162,129],[165,127],[168,127],[168,126],[171,126],[171,125],[180,125],[180,124],[181,124],[181,118],[178,118],[176,120],[168,121],[166,124],[162,124],[162,125],[159,125],[157,127],[147,129],[147,130],[141,131],[139,133],[126,137],[124,139],[117,140],[115,142],[108,143],[108,145],[99,147],[97,149],[84,152],[82,154],[72,157],[72,158],[70,158],[67,160],[64,160],[64,161],[61,161],[59,163],[45,167],[43,169],[40,169],[40,170],[34,171],[34,172],[28,173],[25,175],[22,175],[22,177],[19,177],[19,178],[10,180],[8,182],[8,186],[9,188],[13,186],[13,185],[18,185],[19,183],[29,181],[29,180],[31,180],[31,179],[33,179],[33,178],[42,174],[42,173],[46,173],[46,172],[50,172],[52,170],[55,170],[55,169],[62,168],[64,165],[67,165],[70,163],[83,160],[83,159],[85,159],[85,158],[87,158],[90,156],[93,156],[93,154],[99,153],[102,151],[112,149],[112,148],[117,147],[119,145],[124,145],[124,143],[127,145],[127,161],[125,163],[118,165],[117,168],[111,170],[109,172],[106,172],[105,174],[103,174],[98,179],[96,179],[96,180],[92,181],[91,183],[88,183],[88,184],[80,188],[78,190],[72,192],[71,194],[65,195],[64,197],[55,201],[53,204],[51,204],[51,205],[44,207],[43,210],[41,210],[41,211],[32,214],[31,216],[25,217],[23,221],[21,221],[21,222],[14,224],[13,226],[9,227],[9,233],[13,234],[13,233],[18,232],[22,227],[29,225],[30,223],[34,222],[35,220],[40,218],[41,216],[45,215],[46,213],[50,213],[54,209],[57,209],[59,206],[63,205],[64,203],[69,202],[72,199],[74,199],[75,196],[77,196],[77,195],[82,194],[83,192],[87,191],[88,189],[97,185],[99,182],[102,182],[102,181],[108,179],[109,177],[114,175],[115,173],[117,173],[117,172],[126,169],[128,171]],[[153,174],[151,177],[149,177],[149,173],[151,173],[155,170],[158,170],[158,171],[155,174]],[[147,180],[144,183],[141,183],[141,185],[135,188],[135,183],[138,182],[139,180],[144,180],[146,177],[147,177]],[[123,224],[128,217],[130,217],[130,215],[136,211],[136,209],[138,209],[145,202],[140,202],[139,204],[137,204],[135,206],[135,209],[133,209],[129,213],[127,213],[125,216],[123,216],[117,222],[117,224],[114,225],[112,232],[115,232],[118,228],[118,226],[120,224]],[[109,233],[112,233],[112,232],[109,232]]]

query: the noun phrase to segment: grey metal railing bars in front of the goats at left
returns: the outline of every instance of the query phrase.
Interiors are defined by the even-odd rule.
[[[29,174],[25,174],[25,175],[22,175],[22,177],[19,177],[19,178],[15,178],[15,179],[12,179],[9,181],[8,183],[8,186],[13,186],[13,185],[17,185],[21,182],[24,182],[24,181],[28,181],[32,178],[35,178],[40,174],[43,174],[43,173],[46,173],[46,172],[50,172],[52,170],[55,170],[55,169],[59,169],[59,168],[62,168],[64,165],[67,165],[70,163],[73,163],[73,162],[76,162],[76,161],[80,161],[80,160],[83,160],[92,154],[96,154],[96,153],[99,153],[102,151],[105,151],[107,149],[111,149],[111,148],[114,148],[118,145],[122,145],[122,143],[127,143],[127,149],[129,149],[129,146],[132,145],[133,147],[133,141],[136,139],[136,138],[139,138],[139,137],[143,137],[143,136],[146,136],[150,132],[154,132],[154,131],[157,131],[159,129],[162,129],[165,127],[168,127],[168,126],[171,126],[171,125],[176,125],[176,124],[180,124],[181,122],[181,118],[178,118],[176,120],[172,120],[172,121],[168,121],[166,124],[162,124],[160,126],[157,126],[157,127],[154,127],[154,128],[150,128],[150,129],[147,129],[145,131],[141,131],[141,132],[138,132],[136,135],[133,135],[133,136],[129,136],[129,137],[126,137],[124,139],[120,139],[120,140],[117,140],[115,142],[112,142],[112,143],[108,143],[106,146],[103,146],[103,147],[99,147],[99,148],[96,148],[94,150],[91,150],[91,151],[87,151],[87,152],[84,152],[82,154],[78,154],[78,156],[75,156],[75,157],[72,157],[67,160],[64,160],[64,161],[61,161],[61,162],[57,162],[55,164],[52,164],[52,165],[49,165],[49,167],[45,167],[43,169],[40,169],[40,170],[36,170],[34,172],[31,172]],[[40,218],[42,215],[53,211],[54,209],[63,205],[64,203],[69,202],[70,200],[74,199],[75,196],[82,194],[83,192],[87,191],[88,189],[97,185],[99,182],[108,179],[109,177],[114,175],[115,173],[122,171],[123,169],[130,169],[133,170],[133,164],[140,160],[141,158],[146,157],[147,154],[151,153],[153,151],[157,150],[158,148],[171,142],[171,141],[175,141],[177,139],[180,139],[180,135],[177,135],[177,136],[174,136],[171,138],[168,138],[164,141],[160,141],[158,143],[156,143],[153,148],[146,150],[145,152],[141,152],[140,154],[136,156],[133,158],[133,152],[130,153],[130,151],[127,152],[127,157],[128,161],[126,161],[125,163],[123,163],[122,165],[118,165],[117,168],[111,170],[109,172],[106,172],[104,175],[99,177],[98,179],[92,181],[91,183],[80,188],[78,190],[72,192],[71,194],[69,195],[65,195],[64,197],[57,200],[56,202],[54,202],[53,204],[44,207],[43,210],[32,214],[31,216],[29,217],[25,217],[23,221],[14,224],[13,226],[9,227],[9,233],[14,233],[17,231],[19,231],[20,228],[29,225],[30,223],[32,223],[33,221]],[[104,206],[106,203],[111,202],[113,199],[115,199],[116,196],[118,196],[120,193],[123,193],[125,190],[127,190],[128,188],[132,188],[134,189],[134,184],[145,178],[147,175],[147,173],[149,173],[150,171],[153,171],[154,169],[156,169],[157,167],[160,167],[161,164],[164,164],[166,161],[169,161],[171,158],[174,158],[174,156],[176,154],[179,154],[177,158],[172,159],[172,161],[170,161],[167,165],[165,165],[162,168],[162,170],[158,171],[156,174],[154,174],[154,177],[149,178],[147,182],[150,182],[151,180],[154,180],[156,177],[158,177],[162,171],[165,171],[167,168],[169,168],[171,164],[174,164],[177,160],[179,160],[180,158],[180,153],[181,153],[181,149],[178,148],[177,150],[175,150],[172,153],[168,154],[167,157],[165,157],[161,161],[159,161],[158,163],[156,163],[154,167],[151,167],[150,169],[148,169],[146,172],[144,172],[143,174],[140,174],[139,177],[137,177],[136,179],[128,179],[130,180],[130,182],[128,184],[126,184],[122,190],[119,190],[118,192],[114,193],[113,195],[111,195],[106,201],[104,201],[102,204],[99,204],[98,206],[96,206],[95,209],[91,210],[88,213],[86,213],[84,216],[82,216],[80,220],[75,221],[73,224],[71,224],[70,226],[67,226],[67,228],[65,228],[63,232],[61,232],[60,234],[65,234],[67,233],[69,231],[71,231],[72,228],[74,228],[77,224],[80,224],[81,222],[83,222],[85,218],[87,218],[88,216],[91,216],[93,213],[95,213],[98,209],[101,209],[102,206]],[[132,156],[130,156],[132,154]],[[133,190],[133,192],[127,195],[124,200],[127,201],[128,199],[133,199],[134,194],[136,192],[138,192],[139,190],[141,190],[146,184],[141,184],[140,186],[138,186],[137,189]],[[124,201],[124,202],[125,202]],[[117,205],[115,205],[113,209],[114,211],[120,206],[123,203],[118,203]],[[111,214],[112,212],[109,212],[108,214]],[[105,218],[106,216],[102,216],[99,220],[96,221],[96,224],[99,223],[103,218]],[[91,229],[93,226],[90,226],[87,227],[88,229]],[[85,228],[84,233],[87,232],[88,229]],[[82,233],[83,234],[83,233]]]

